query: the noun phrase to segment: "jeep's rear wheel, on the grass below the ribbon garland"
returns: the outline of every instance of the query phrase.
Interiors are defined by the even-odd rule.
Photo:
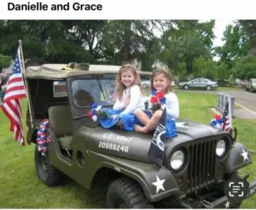
[[[61,182],[61,172],[50,165],[48,155],[42,156],[38,151],[38,145],[35,147],[35,167],[38,178],[47,186],[55,186]]]

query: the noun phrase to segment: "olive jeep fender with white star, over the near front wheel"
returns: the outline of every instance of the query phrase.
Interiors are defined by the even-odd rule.
[[[142,186],[145,196],[149,201],[160,201],[168,196],[174,194],[179,195],[181,193],[176,179],[172,176],[172,172],[165,166],[159,168],[152,163],[135,163],[124,158],[98,153],[94,153],[94,155],[104,156],[105,160],[109,158],[109,162],[99,162],[96,166],[96,171],[102,167],[108,167],[124,174],[126,177],[136,180]],[[159,186],[157,187],[156,185],[158,184]]]

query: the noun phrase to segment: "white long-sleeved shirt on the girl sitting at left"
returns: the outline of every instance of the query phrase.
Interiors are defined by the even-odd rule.
[[[130,98],[129,105],[125,105],[124,100]],[[117,99],[113,105],[113,110],[122,111],[122,114],[133,113],[137,108],[144,109],[144,99],[141,89],[137,85],[125,88],[121,99]]]

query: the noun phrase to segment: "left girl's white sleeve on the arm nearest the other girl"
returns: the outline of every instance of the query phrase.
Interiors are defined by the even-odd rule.
[[[139,104],[139,101],[141,99],[141,90],[137,85],[134,85],[131,87],[131,98],[130,103],[127,105],[124,111],[122,111],[122,114],[129,114],[136,110],[137,105]]]

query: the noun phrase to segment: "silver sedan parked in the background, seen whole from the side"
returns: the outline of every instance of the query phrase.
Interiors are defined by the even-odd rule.
[[[211,90],[212,88],[218,88],[218,82],[212,82],[207,78],[196,78],[189,82],[180,82],[178,84],[180,88],[189,89],[189,88],[204,88]]]

